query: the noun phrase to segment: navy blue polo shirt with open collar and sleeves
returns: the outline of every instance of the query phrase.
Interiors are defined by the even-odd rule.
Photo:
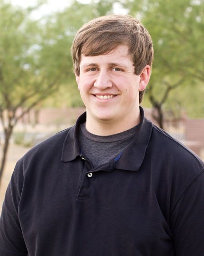
[[[204,163],[144,117],[132,142],[93,168],[76,125],[16,164],[0,256],[203,256]]]

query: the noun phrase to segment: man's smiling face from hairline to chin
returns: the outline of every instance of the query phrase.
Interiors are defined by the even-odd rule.
[[[99,56],[82,55],[76,79],[89,121],[122,123],[136,118],[139,90],[145,87],[134,73],[127,46]]]

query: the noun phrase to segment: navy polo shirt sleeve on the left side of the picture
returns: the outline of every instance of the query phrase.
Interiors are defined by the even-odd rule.
[[[27,256],[18,215],[18,205],[23,185],[22,164],[16,164],[0,217],[0,256]]]

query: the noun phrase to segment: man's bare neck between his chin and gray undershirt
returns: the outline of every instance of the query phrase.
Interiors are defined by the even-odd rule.
[[[134,118],[126,118],[122,120],[96,120],[91,118],[87,113],[86,128],[87,131],[100,136],[108,136],[116,133],[124,132],[133,128],[140,123],[140,113],[134,115]]]

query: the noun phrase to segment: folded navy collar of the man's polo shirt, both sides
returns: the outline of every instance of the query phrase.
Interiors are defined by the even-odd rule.
[[[118,159],[115,168],[138,171],[144,160],[146,148],[151,138],[152,123],[145,118],[144,110],[140,107],[141,121],[131,143],[125,148]],[[68,131],[63,144],[62,161],[69,162],[81,154],[79,145],[80,124],[86,122],[86,112],[77,120],[76,124]]]

